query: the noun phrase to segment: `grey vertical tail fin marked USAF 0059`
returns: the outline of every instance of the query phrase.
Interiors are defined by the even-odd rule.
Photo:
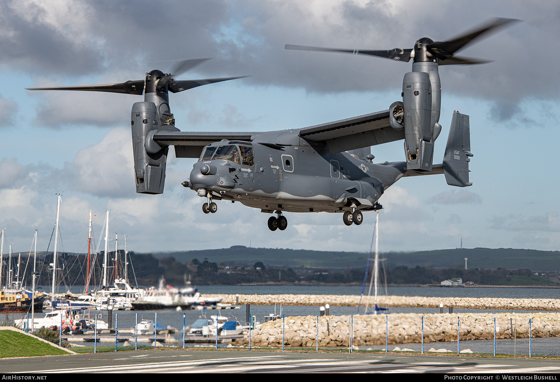
[[[447,184],[457,187],[472,185],[469,183],[469,162],[472,156],[469,116],[454,111],[443,164]]]

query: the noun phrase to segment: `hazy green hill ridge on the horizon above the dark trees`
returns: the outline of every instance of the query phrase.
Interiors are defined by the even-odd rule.
[[[367,253],[313,251],[282,248],[247,248],[234,245],[231,248],[206,249],[194,251],[175,251],[153,253],[157,258],[174,257],[185,263],[194,258],[227,265],[252,265],[263,262],[270,267],[312,267],[312,268],[365,268]],[[511,248],[473,248],[441,249],[417,252],[389,252],[382,254],[387,258],[389,267],[407,265],[408,267],[433,267],[437,269],[464,267],[465,257],[469,268],[507,268],[531,269],[533,271],[560,270],[560,251],[539,251],[533,249]]]

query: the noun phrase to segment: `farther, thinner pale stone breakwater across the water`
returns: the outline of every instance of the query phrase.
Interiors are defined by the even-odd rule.
[[[205,295],[222,297],[223,295]],[[225,295],[224,304],[235,304],[236,295]],[[560,310],[560,299],[498,299],[492,297],[419,297],[419,296],[378,296],[379,306],[404,308],[439,308],[453,306],[458,309],[506,309],[506,310]],[[239,295],[239,304],[251,305],[325,305],[358,306],[360,296],[339,295]],[[362,306],[367,297],[362,297]],[[374,297],[370,297],[370,306]]]

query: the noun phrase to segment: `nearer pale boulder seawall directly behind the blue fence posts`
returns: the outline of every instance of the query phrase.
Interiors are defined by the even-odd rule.
[[[423,316],[423,325],[422,325]],[[511,322],[510,322],[511,318]],[[319,346],[349,346],[352,332],[353,345],[457,341],[458,321],[460,340],[529,337],[560,337],[560,314],[378,314],[354,316],[320,316]],[[494,326],[494,319],[496,325]],[[353,320],[353,324],[352,324]],[[267,322],[260,329],[251,330],[251,346],[315,347],[318,335],[317,316],[290,316]],[[352,328],[352,330],[351,330]],[[513,332],[512,332],[513,329]],[[249,346],[249,334],[237,339],[237,346]]]

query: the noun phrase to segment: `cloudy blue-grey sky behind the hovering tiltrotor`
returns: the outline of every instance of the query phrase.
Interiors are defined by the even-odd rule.
[[[0,225],[6,244],[45,250],[62,193],[63,249],[85,250],[90,209],[97,239],[111,231],[136,251],[252,245],[367,251],[374,213],[347,227],[339,214],[268,214],[204,202],[180,183],[194,160],[167,166],[165,193],[136,194],[130,107],[142,96],[31,92],[25,87],[142,80],[174,60],[212,60],[181,79],[252,77],[171,94],[182,131],[300,128],[388,109],[411,63],[284,50],[284,44],[412,48],[447,40],[490,17],[520,22],[461,55],[494,62],[440,68],[443,157],[453,110],[470,115],[473,186],[444,176],[402,179],[381,198],[382,250],[560,248],[558,129],[560,4],[550,1],[80,1],[0,2]],[[173,153],[173,150],[170,150]],[[402,142],[373,147],[376,161],[404,160]],[[113,244],[114,245],[114,244]],[[120,244],[122,248],[122,244]],[[4,247],[6,251],[7,247]],[[52,250],[52,244],[50,249]]]

